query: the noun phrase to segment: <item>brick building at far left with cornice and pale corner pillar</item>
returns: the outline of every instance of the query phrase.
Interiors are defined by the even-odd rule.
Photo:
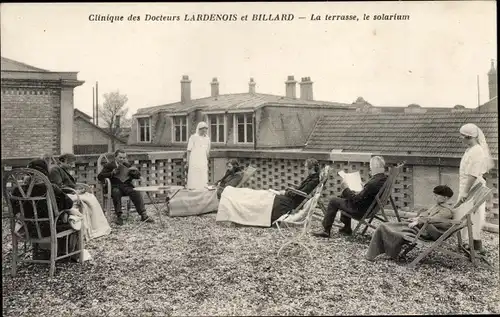
[[[2,158],[73,152],[77,72],[51,72],[1,58]]]

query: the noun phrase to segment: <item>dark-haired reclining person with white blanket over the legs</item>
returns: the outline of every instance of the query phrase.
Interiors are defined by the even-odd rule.
[[[319,184],[319,163],[305,161],[306,179],[297,187],[310,194]],[[291,191],[275,194],[270,190],[226,187],[219,203],[216,221],[230,221],[247,226],[270,227],[282,215],[297,208],[304,197]]]

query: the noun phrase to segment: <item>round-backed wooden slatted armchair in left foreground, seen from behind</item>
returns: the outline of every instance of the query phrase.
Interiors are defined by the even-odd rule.
[[[24,180],[24,183],[23,183]],[[44,186],[45,193],[35,196],[33,189]],[[18,193],[15,189],[18,189]],[[15,168],[5,173],[3,179],[3,194],[8,205],[10,227],[12,235],[12,276],[16,275],[17,266],[21,262],[47,263],[50,265],[49,275],[54,276],[55,263],[58,260],[78,254],[80,263],[83,263],[83,223],[79,231],[68,229],[57,232],[56,225],[65,210],[58,210],[57,201],[49,179],[37,170],[30,168]],[[45,215],[45,211],[47,215]],[[17,233],[17,226],[24,229],[21,236]],[[78,250],[69,252],[69,237],[78,234]],[[65,252],[58,255],[58,244],[65,239]],[[24,241],[26,252],[27,244],[33,247],[31,259],[23,259],[18,254],[18,244]],[[50,245],[48,260],[35,259],[40,244]]]

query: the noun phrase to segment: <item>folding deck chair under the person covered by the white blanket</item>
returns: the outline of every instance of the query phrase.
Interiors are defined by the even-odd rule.
[[[330,166],[325,166],[323,170],[320,173],[320,182],[318,186],[311,192],[311,194],[307,195],[304,192],[301,192],[296,189],[289,188],[294,193],[300,193],[299,195],[305,197],[302,203],[295,209],[291,210],[290,212],[286,213],[285,215],[281,216],[278,218],[272,225],[276,225],[278,228],[279,233],[285,238],[285,243],[281,246],[281,248],[278,250],[278,256],[280,255],[281,251],[288,245],[291,244],[297,244],[309,253],[309,256],[312,259],[312,254],[309,248],[305,245],[302,240],[304,238],[311,244],[315,245],[315,241],[311,239],[311,236],[309,233],[310,228],[311,228],[311,222],[313,215],[316,211],[316,206],[318,205],[319,199],[321,197],[321,193],[323,192],[323,187],[326,183],[326,180],[328,179],[328,176],[330,174],[331,168]],[[271,225],[271,226],[272,226]],[[290,229],[291,226],[302,226],[302,229],[300,230],[299,233],[293,235],[291,238],[287,237],[281,226],[284,225],[288,229]]]

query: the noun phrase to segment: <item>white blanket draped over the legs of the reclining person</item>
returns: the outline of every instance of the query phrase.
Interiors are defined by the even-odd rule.
[[[269,227],[274,196],[275,194],[268,190],[228,186],[222,192],[216,221]]]

